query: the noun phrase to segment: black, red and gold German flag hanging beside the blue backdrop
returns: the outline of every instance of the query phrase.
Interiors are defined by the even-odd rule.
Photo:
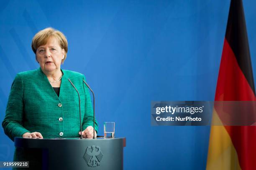
[[[242,0],[230,2],[215,101],[256,101]],[[256,170],[256,126],[212,126],[206,169]]]

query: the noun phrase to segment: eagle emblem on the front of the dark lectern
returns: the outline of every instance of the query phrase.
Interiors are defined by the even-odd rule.
[[[100,166],[103,154],[99,146],[92,145],[86,148],[83,158],[89,167],[96,167]]]

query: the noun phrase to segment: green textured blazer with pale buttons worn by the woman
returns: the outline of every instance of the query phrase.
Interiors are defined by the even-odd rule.
[[[59,97],[41,67],[20,72],[13,81],[3,128],[11,140],[26,132],[40,132],[44,138],[78,138],[79,100],[68,78],[80,94],[82,130],[93,126],[93,110],[83,74],[61,70]],[[61,119],[62,118],[62,119]],[[98,130],[95,120],[95,129]]]

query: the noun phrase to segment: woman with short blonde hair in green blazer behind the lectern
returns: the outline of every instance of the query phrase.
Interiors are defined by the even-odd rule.
[[[11,140],[23,138],[78,138],[80,94],[82,136],[93,137],[93,110],[83,74],[62,70],[68,51],[64,34],[53,28],[33,37],[32,50],[40,67],[16,75],[8,98],[3,128]],[[97,121],[95,121],[95,135]],[[24,160],[31,150],[15,149],[14,160]],[[30,163],[31,165],[31,163]]]

